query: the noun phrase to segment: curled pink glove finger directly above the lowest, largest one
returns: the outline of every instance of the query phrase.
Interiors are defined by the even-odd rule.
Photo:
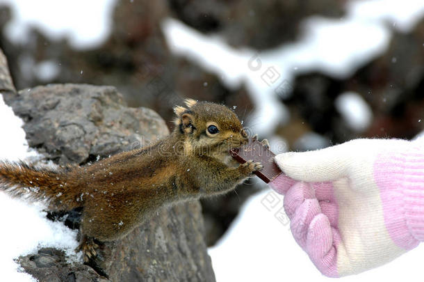
[[[317,214],[320,214],[320,212],[320,204],[314,198],[305,199],[304,202],[297,207],[297,210],[293,215],[293,219],[290,224],[291,233],[293,234],[297,244],[299,244],[302,249],[305,249],[307,246],[309,224]]]

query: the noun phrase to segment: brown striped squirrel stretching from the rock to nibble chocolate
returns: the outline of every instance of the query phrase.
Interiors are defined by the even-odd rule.
[[[88,263],[97,243],[124,237],[160,207],[225,194],[263,168],[229,155],[248,142],[236,113],[211,102],[185,104],[174,107],[175,127],[164,139],[93,164],[48,169],[0,162],[0,191],[47,201],[49,210],[82,208],[76,251]]]

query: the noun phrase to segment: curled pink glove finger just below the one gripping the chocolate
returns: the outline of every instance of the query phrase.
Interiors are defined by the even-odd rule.
[[[305,198],[315,198],[315,193],[309,183],[297,182],[288,189],[284,196],[284,210],[289,219],[293,218],[293,214],[305,200]]]

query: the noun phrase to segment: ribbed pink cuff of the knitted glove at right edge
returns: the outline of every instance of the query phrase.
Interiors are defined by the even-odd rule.
[[[387,231],[407,250],[424,241],[424,150],[417,145],[411,143],[407,152],[382,153],[374,164]]]

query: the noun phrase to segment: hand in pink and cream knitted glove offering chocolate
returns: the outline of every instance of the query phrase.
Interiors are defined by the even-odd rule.
[[[424,142],[357,139],[275,161],[296,242],[326,276],[383,265],[424,240]]]

